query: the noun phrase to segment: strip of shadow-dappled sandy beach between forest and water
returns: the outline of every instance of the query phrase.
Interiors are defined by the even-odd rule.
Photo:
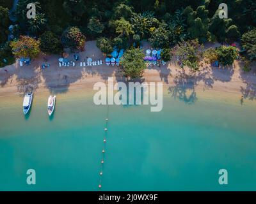
[[[143,48],[148,48],[144,43]],[[116,81],[124,81],[116,66],[90,66],[80,67],[79,62],[86,57],[93,60],[104,60],[104,56],[97,48],[95,41],[87,41],[85,51],[80,52],[79,61],[75,67],[59,67],[58,58],[60,55],[41,55],[33,60],[29,66],[20,67],[16,62],[13,65],[0,69],[0,96],[19,94],[22,96],[26,91],[54,93],[67,92],[74,89],[92,89],[96,82],[106,81],[108,77],[114,77]],[[69,54],[68,59],[73,59]],[[49,68],[42,69],[40,66],[47,62]],[[4,71],[8,70],[8,72]],[[197,73],[182,75],[182,70],[175,64],[175,61],[168,62],[165,66],[149,67],[145,70],[143,80],[145,82],[163,82],[173,97],[187,97],[193,92],[216,91],[219,94],[232,93],[238,99],[243,98],[253,101],[256,99],[256,71],[252,69],[244,73],[239,62],[234,62],[232,67],[213,68],[205,65]],[[211,92],[212,93],[212,92]],[[184,95],[184,96],[182,96]]]

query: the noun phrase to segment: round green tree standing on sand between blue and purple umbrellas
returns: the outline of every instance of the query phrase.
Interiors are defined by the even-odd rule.
[[[143,73],[147,68],[143,60],[144,56],[145,55],[140,48],[126,50],[120,61],[124,77],[137,78],[143,76]]]

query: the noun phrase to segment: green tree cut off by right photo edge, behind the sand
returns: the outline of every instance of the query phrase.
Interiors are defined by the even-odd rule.
[[[251,61],[256,59],[256,29],[244,33],[241,38],[243,48]]]

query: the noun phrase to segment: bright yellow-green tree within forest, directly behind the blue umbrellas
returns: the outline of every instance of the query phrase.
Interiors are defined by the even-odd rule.
[[[133,34],[132,26],[129,21],[124,18],[115,21],[116,33],[119,34],[119,37],[129,38],[130,34]]]

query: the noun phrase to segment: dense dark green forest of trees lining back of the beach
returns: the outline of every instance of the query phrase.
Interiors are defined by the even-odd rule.
[[[29,0],[19,0],[13,13],[17,20],[11,23],[8,11],[12,4],[0,0],[0,43],[3,45],[10,34],[8,26],[13,24],[12,41],[19,42],[26,39],[22,36],[29,36],[38,41],[40,50],[47,54],[61,53],[63,48],[83,50],[86,39],[97,40],[97,46],[106,55],[113,51],[113,47],[136,50],[134,48],[140,47],[142,40],[147,40],[152,47],[163,48],[161,57],[164,61],[175,55],[181,68],[188,66],[197,70],[198,61],[211,56],[195,50],[201,48],[202,43],[241,40],[247,59],[255,60],[256,4],[253,0],[227,0],[227,19],[218,17],[219,0],[37,0],[35,19],[26,18],[28,3]],[[4,50],[8,52],[11,46],[13,54],[19,57],[22,55],[20,50],[24,50],[24,47],[17,47],[19,45],[22,43],[8,43]],[[29,57],[35,57],[37,49],[35,47],[35,53]],[[232,60],[224,62],[227,56],[221,54],[227,49],[231,50],[228,54],[233,59],[234,48],[208,52],[214,52],[216,59],[227,65]]]

